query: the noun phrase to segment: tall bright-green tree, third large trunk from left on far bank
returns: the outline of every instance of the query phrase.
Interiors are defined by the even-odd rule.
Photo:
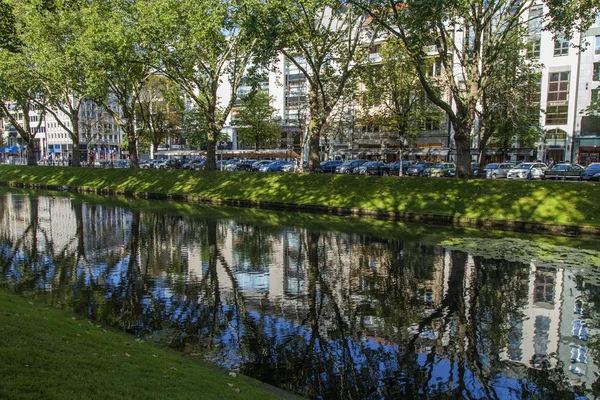
[[[154,72],[140,42],[137,7],[132,0],[92,3],[83,20],[87,29],[81,54],[89,97],[124,132],[131,168],[139,167],[135,108],[145,81]]]

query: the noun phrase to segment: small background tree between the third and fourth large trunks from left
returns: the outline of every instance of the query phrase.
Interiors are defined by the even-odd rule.
[[[167,78],[151,76],[142,87],[136,106],[139,136],[156,154],[158,146],[181,128],[183,101],[177,87]]]

